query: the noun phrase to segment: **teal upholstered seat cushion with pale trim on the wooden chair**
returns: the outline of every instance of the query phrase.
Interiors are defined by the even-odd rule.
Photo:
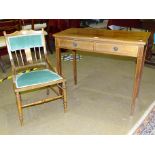
[[[62,79],[61,76],[48,69],[35,70],[29,73],[22,73],[16,76],[16,87],[28,87],[38,84],[44,84]]]

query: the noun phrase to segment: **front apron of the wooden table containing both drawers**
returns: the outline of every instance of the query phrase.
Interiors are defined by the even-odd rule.
[[[137,57],[138,49],[141,46],[133,44],[120,44],[113,42],[96,42],[96,41],[83,41],[74,39],[56,39],[57,47],[71,49],[71,50],[81,50],[90,51],[95,53],[106,53],[112,55],[120,56],[130,56]]]

